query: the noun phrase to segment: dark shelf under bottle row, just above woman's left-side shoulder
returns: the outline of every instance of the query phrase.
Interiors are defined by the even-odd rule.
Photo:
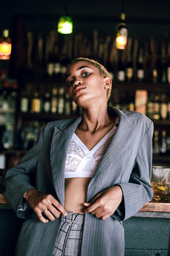
[[[29,119],[43,119],[43,120],[61,120],[61,119],[70,119],[70,118],[78,118],[77,115],[59,115],[59,114],[45,114],[45,113],[19,113],[21,118],[29,118]]]

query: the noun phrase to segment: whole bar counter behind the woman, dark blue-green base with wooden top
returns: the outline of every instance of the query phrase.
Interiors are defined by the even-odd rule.
[[[22,222],[0,194],[0,255],[14,255]],[[123,227],[125,256],[170,256],[170,203],[144,204]]]

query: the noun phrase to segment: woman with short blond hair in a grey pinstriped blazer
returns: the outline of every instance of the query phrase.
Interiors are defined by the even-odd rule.
[[[82,116],[48,123],[3,174],[3,195],[24,218],[16,256],[123,256],[122,220],[151,200],[153,122],[108,106],[112,81],[78,58],[66,84]]]

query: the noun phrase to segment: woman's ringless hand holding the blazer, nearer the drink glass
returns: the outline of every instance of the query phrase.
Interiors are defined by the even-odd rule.
[[[87,206],[83,209],[83,213],[92,213],[96,217],[102,217],[106,220],[118,208],[123,198],[123,193],[120,186],[114,186],[103,190],[97,194],[90,203],[84,203]]]

